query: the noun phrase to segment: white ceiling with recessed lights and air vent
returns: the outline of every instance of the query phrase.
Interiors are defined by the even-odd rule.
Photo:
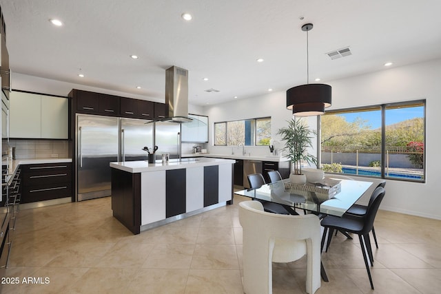
[[[195,105],[307,83],[304,23],[314,24],[310,83],[387,70],[387,61],[397,67],[441,58],[439,0],[0,0],[0,6],[12,72],[147,100],[164,99],[172,65],[189,70]],[[326,54],[348,46],[350,56]]]

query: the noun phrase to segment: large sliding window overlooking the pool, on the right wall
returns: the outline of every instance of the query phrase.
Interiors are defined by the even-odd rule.
[[[425,101],[330,111],[320,120],[325,171],[424,182]]]

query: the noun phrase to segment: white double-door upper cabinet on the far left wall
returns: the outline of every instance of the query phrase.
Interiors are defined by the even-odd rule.
[[[68,138],[68,98],[10,93],[10,138]]]

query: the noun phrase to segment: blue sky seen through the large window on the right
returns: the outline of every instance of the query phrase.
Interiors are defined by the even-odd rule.
[[[357,117],[362,120],[367,120],[368,125],[371,125],[371,129],[378,129],[381,127],[381,111],[371,112],[357,112],[348,114],[338,114],[343,116],[346,121],[352,123]],[[386,125],[393,125],[394,123],[400,123],[401,121],[412,118],[424,118],[424,107],[406,107],[406,108],[394,108],[386,110]]]

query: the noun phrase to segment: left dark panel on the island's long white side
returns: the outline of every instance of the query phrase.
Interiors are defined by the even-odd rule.
[[[185,213],[187,193],[187,170],[165,171],[165,217],[170,218]]]

